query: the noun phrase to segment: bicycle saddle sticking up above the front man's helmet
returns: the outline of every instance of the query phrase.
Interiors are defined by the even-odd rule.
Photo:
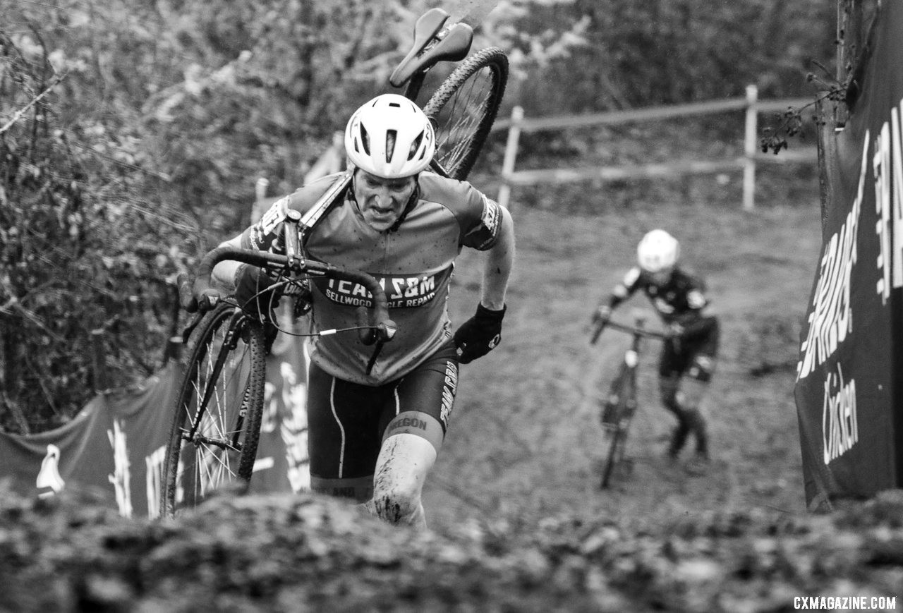
[[[432,8],[414,23],[414,46],[392,72],[389,83],[400,88],[420,70],[433,67],[440,61],[458,61],[467,57],[473,42],[473,28],[467,23],[455,23],[442,30],[449,14]]]

